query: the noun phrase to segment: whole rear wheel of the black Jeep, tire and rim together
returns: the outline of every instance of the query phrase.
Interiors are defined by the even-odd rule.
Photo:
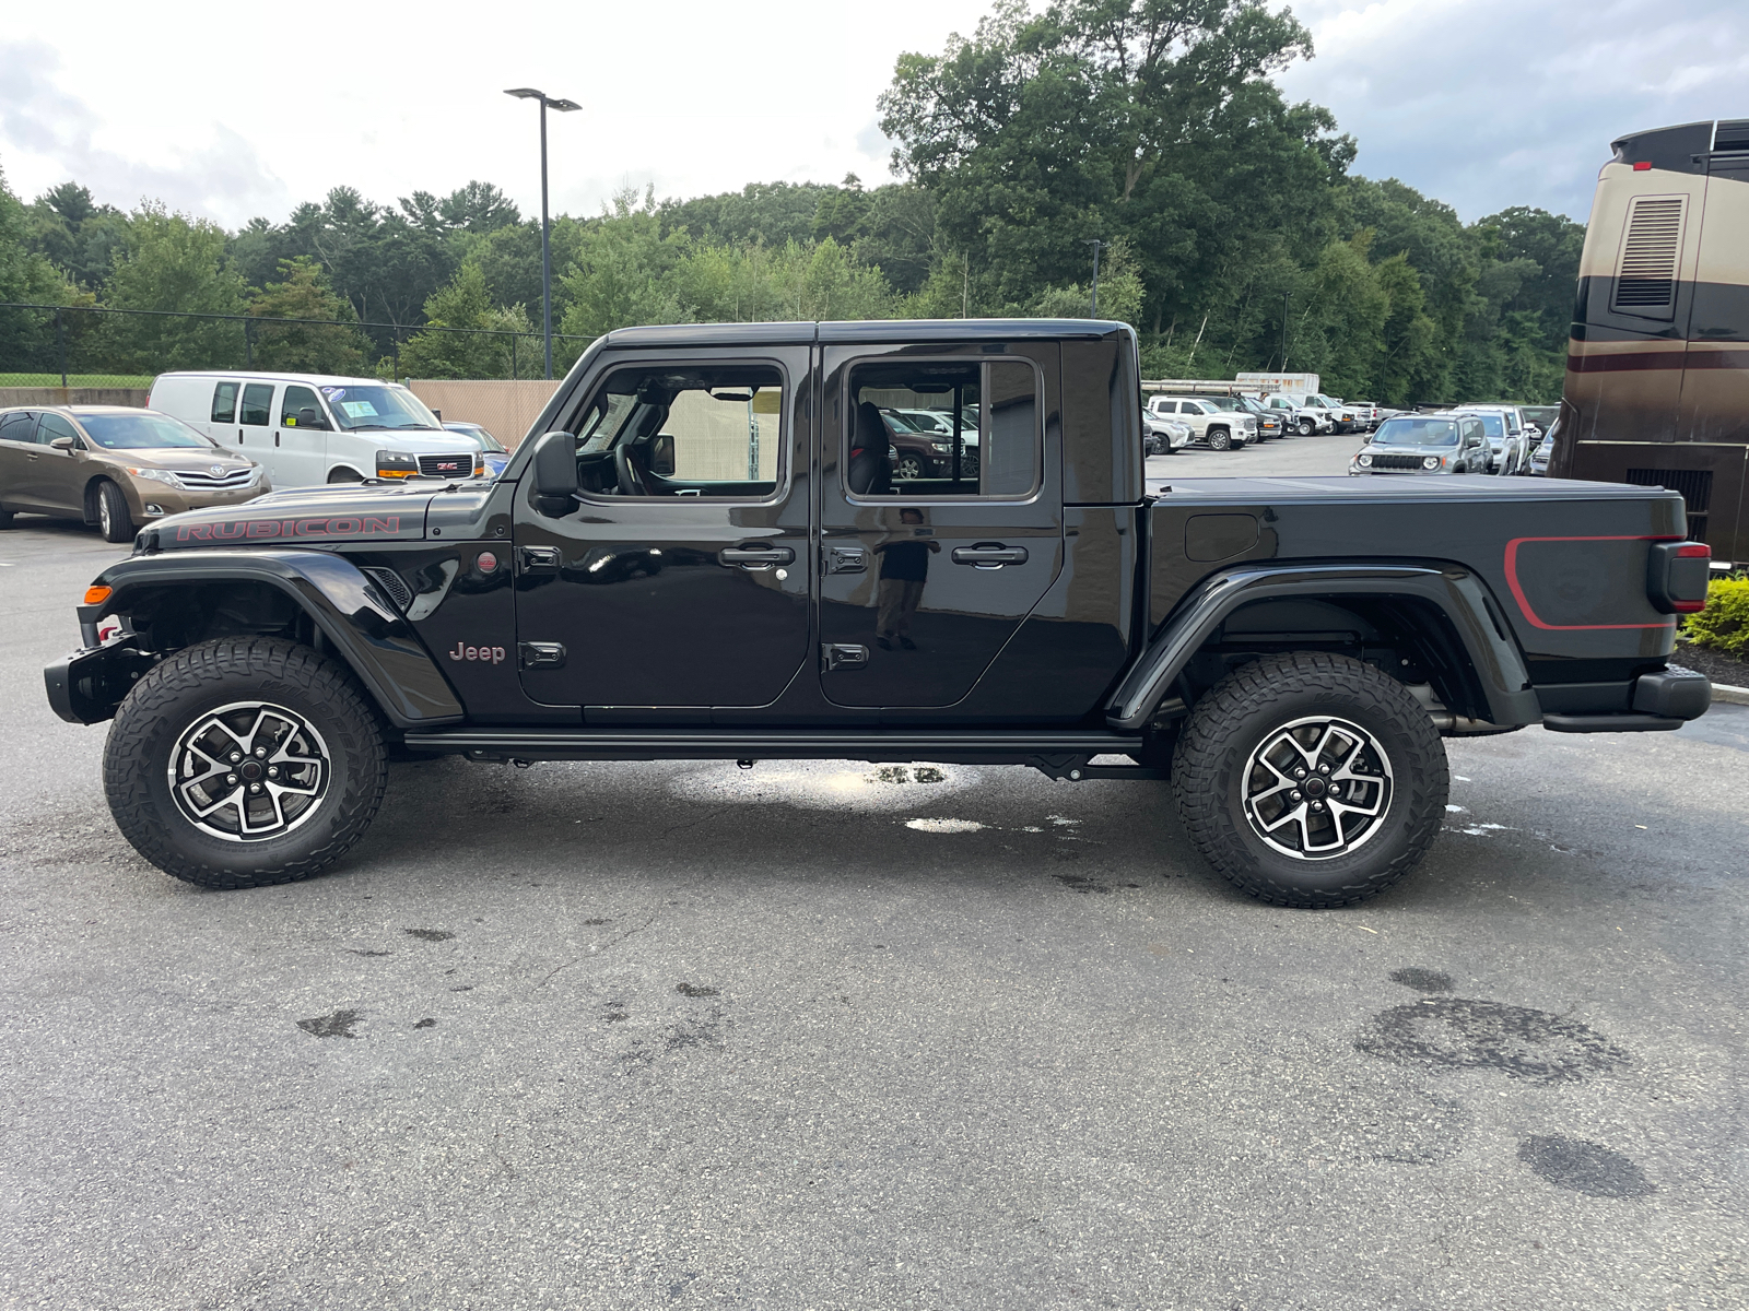
[[[1242,664],[1198,701],[1172,790],[1216,871],[1275,905],[1366,900],[1445,818],[1445,745],[1396,678],[1347,656]]]

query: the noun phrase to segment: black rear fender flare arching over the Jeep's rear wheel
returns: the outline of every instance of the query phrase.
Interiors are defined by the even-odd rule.
[[[1140,729],[1167,699],[1189,659],[1214,631],[1251,601],[1275,598],[1340,600],[1403,596],[1427,601],[1452,622],[1487,701],[1488,720],[1501,727],[1537,724],[1543,710],[1530,690],[1518,643],[1499,605],[1471,570],[1441,561],[1392,565],[1270,565],[1221,570],[1203,579],[1167,617],[1130,666],[1105,706],[1105,722],[1119,732]]]

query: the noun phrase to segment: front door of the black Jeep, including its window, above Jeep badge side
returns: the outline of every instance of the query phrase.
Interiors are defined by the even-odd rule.
[[[575,411],[575,502],[516,493],[523,690],[589,722],[708,724],[810,654],[810,350],[617,351]]]

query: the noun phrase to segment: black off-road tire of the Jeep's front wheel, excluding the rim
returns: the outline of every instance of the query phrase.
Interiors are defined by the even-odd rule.
[[[276,837],[226,841],[187,818],[171,794],[171,753],[203,717],[240,703],[278,706],[322,738],[327,787]],[[320,874],[359,841],[388,781],[383,734],[352,673],[280,638],[227,638],[156,664],[122,701],[103,748],[103,790],[133,848],[203,888],[261,888]]]

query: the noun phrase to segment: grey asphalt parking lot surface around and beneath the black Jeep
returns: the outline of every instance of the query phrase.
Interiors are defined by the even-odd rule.
[[[397,766],[210,893],[42,697],[117,554],[0,533],[5,1306],[1749,1304],[1749,708],[1452,741],[1341,912],[1163,785],[833,762]]]

